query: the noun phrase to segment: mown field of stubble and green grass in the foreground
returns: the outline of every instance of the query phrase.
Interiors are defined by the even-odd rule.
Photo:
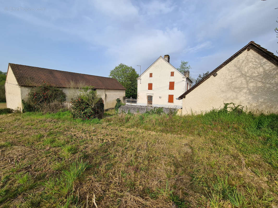
[[[278,115],[0,115],[1,207],[272,207]]]

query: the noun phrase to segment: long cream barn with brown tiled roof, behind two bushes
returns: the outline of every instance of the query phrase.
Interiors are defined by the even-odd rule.
[[[9,63],[5,83],[7,108],[22,111],[22,100],[27,100],[30,89],[44,82],[63,90],[66,102],[84,86],[96,89],[103,99],[104,109],[114,108],[117,98],[122,102],[125,98],[125,88],[113,78]]]

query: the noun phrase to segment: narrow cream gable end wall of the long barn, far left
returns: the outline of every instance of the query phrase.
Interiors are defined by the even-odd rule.
[[[22,103],[21,103],[21,88],[14,77],[14,73],[9,67],[6,83],[6,101],[7,101],[7,108],[11,108],[14,110],[22,110]]]

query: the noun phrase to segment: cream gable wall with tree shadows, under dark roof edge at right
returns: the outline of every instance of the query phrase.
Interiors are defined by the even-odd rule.
[[[278,113],[278,67],[254,50],[245,50],[182,100],[183,115],[231,102],[255,113]]]

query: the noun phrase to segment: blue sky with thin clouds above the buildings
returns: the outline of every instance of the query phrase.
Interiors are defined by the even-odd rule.
[[[212,71],[250,41],[276,54],[277,0],[0,1],[0,70],[8,63],[108,77],[160,55],[190,75]]]

